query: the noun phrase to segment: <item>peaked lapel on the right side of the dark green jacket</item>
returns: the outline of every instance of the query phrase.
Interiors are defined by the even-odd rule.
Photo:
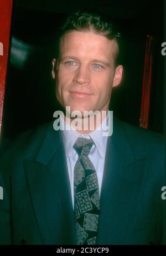
[[[131,243],[146,158],[137,159],[121,125],[108,137],[97,244]]]

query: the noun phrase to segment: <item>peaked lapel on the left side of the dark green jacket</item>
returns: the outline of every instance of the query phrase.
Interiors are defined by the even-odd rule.
[[[60,132],[49,126],[35,161],[24,169],[43,244],[75,244],[70,181]]]

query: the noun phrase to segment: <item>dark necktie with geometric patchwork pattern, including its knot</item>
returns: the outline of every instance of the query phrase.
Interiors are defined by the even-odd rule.
[[[94,165],[88,157],[92,139],[78,138],[74,149],[78,160],[74,167],[74,215],[77,244],[96,244],[100,195]]]

